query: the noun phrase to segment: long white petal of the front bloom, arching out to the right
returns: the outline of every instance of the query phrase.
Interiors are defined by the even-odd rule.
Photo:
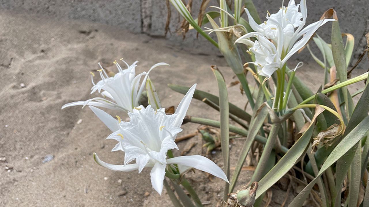
[[[227,176],[225,175],[223,170],[220,169],[220,167],[218,167],[218,165],[216,165],[213,161],[204,156],[201,155],[180,156],[169,158],[166,160],[166,162],[167,164],[179,164],[196,168],[201,171],[210,173],[211,175],[217,176],[218,178],[221,178],[229,183]]]

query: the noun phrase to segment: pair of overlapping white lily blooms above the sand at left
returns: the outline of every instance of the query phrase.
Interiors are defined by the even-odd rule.
[[[196,168],[228,182],[225,173],[206,157],[192,155],[167,158],[169,150],[178,150],[175,138],[182,131],[180,127],[191,103],[196,84],[189,89],[179,103],[176,112],[172,115],[167,115],[164,108],[154,109],[151,105],[146,108],[142,105],[138,106],[138,99],[143,90],[143,85],[148,79],[148,73],[135,76],[135,63],[131,66],[127,64],[128,69],[125,70],[122,70],[119,64],[116,63],[119,73],[115,74],[114,77],[108,77],[104,69],[101,69],[99,72],[102,80],[97,84],[92,81],[94,85],[92,92],[100,92],[102,89],[104,91],[101,94],[112,101],[104,98],[93,98],[63,106],[63,108],[66,108],[75,105],[89,105],[95,115],[113,131],[107,139],[118,141],[112,151],[124,151],[124,163],[123,165],[108,164],[101,161],[94,153],[94,160],[97,164],[113,171],[123,172],[138,170],[138,173],[140,173],[144,168],[152,168],[150,172],[151,183],[159,194],[163,189],[166,168],[172,164],[176,164],[180,174],[191,168]],[[150,70],[159,65],[168,64],[158,63]],[[145,78],[141,87],[139,87],[139,80],[143,75],[145,75]],[[126,111],[130,121],[123,122],[119,116],[116,116],[117,120],[95,106]],[[135,163],[129,164],[132,161],[135,161]]]

